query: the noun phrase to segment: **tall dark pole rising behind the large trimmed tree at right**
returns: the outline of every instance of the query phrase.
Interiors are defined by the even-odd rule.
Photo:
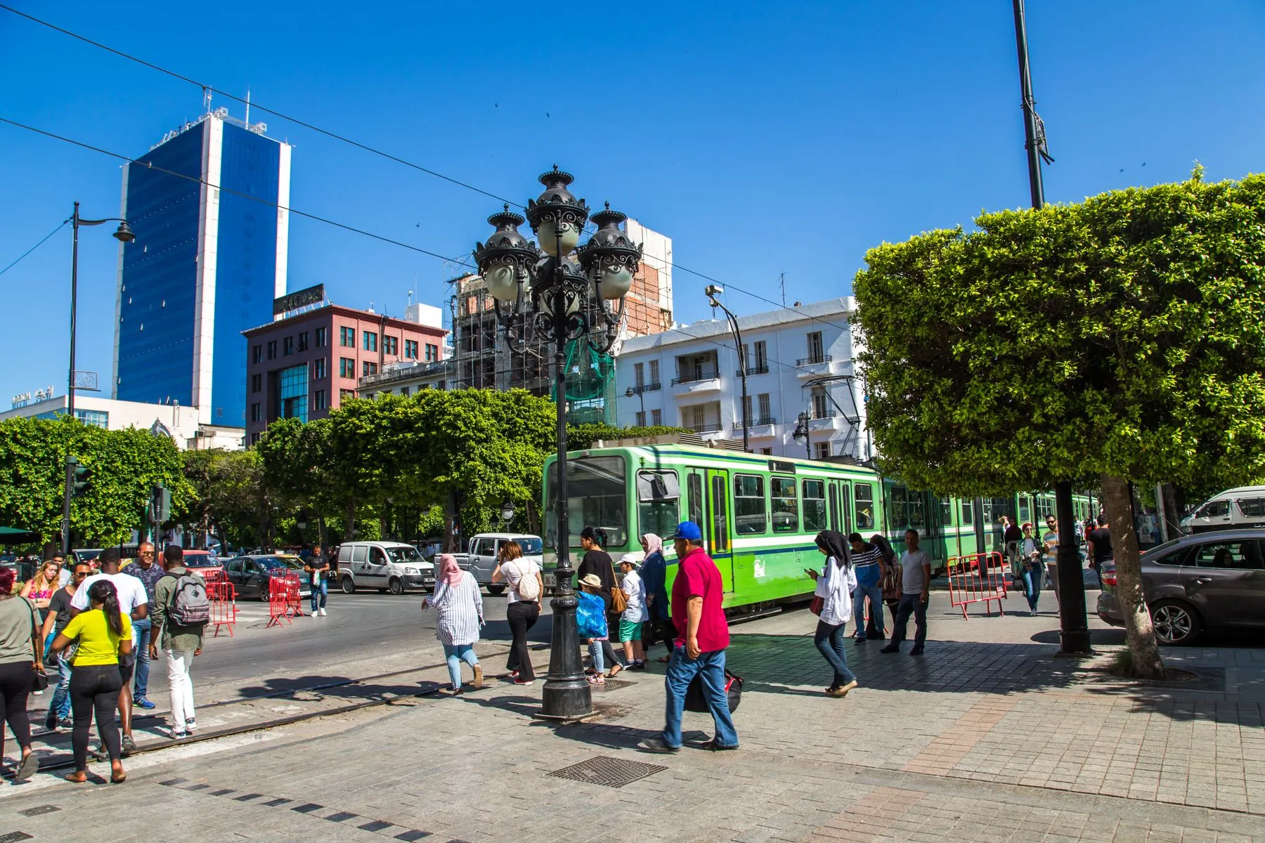
[[[1032,97],[1032,76],[1028,68],[1027,19],[1023,14],[1023,0],[1015,4],[1015,45],[1020,61],[1020,92],[1023,99],[1023,148],[1027,150],[1028,188],[1032,193],[1032,207],[1045,206],[1045,190],[1041,183],[1041,161],[1052,162],[1045,144],[1045,125],[1036,114],[1036,100]],[[1060,480],[1054,484],[1054,509],[1059,522],[1059,549],[1056,571],[1059,576],[1059,638],[1064,653],[1083,655],[1092,652],[1089,646],[1089,623],[1085,618],[1085,581],[1080,573],[1080,552],[1077,550],[1077,532],[1071,509],[1071,483]]]

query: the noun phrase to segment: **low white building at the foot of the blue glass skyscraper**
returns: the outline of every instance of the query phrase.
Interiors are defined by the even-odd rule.
[[[52,388],[28,396],[15,396],[13,409],[0,412],[0,421],[10,418],[56,418],[66,415],[66,396],[52,396]],[[85,425],[106,430],[139,427],[154,435],[170,436],[180,450],[221,447],[238,451],[243,447],[245,430],[223,425],[204,425],[197,407],[181,404],[147,404],[139,401],[116,401],[75,393],[75,417]]]

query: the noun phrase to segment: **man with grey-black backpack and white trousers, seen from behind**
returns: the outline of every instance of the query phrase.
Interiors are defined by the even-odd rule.
[[[158,648],[167,655],[167,688],[171,690],[171,737],[185,738],[194,733],[194,657],[202,655],[202,631],[211,619],[206,583],[185,567],[185,549],[167,545],[163,551],[167,575],[154,585],[153,632],[149,657],[158,657]]]

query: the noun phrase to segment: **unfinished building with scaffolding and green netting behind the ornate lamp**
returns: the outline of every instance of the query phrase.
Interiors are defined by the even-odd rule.
[[[630,336],[646,336],[672,327],[672,239],[636,220],[624,224],[629,238],[644,245],[641,267],[624,300],[619,339],[610,354],[597,354],[579,340],[567,348],[568,416],[573,422],[615,423],[615,363]],[[496,321],[492,296],[483,279],[466,274],[449,282],[453,296],[453,389],[526,389],[536,396],[553,391],[553,343],[538,332],[522,351],[510,349]]]

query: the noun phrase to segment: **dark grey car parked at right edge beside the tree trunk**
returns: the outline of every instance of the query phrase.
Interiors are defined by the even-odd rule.
[[[1142,590],[1160,643],[1193,643],[1204,629],[1265,627],[1265,530],[1198,532],[1142,554]],[[1103,566],[1098,617],[1121,627],[1116,565]]]

